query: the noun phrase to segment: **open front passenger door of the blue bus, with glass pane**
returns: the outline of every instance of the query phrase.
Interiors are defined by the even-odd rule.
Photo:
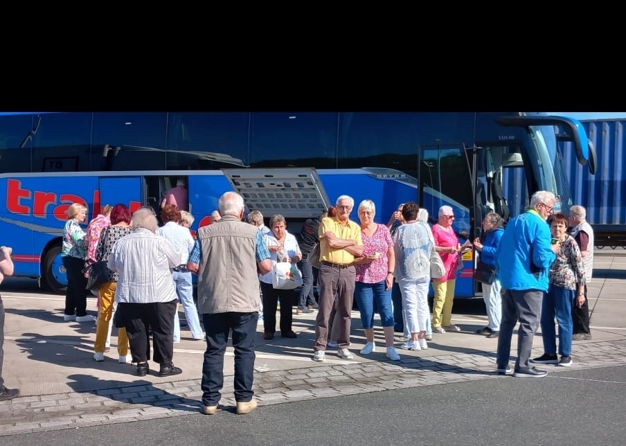
[[[429,213],[429,225],[438,221],[439,208],[451,206],[454,210],[452,228],[460,244],[472,242],[476,233],[476,186],[472,175],[474,150],[463,144],[420,145],[418,148],[420,207]],[[469,156],[472,155],[472,156]],[[465,268],[457,274],[455,297],[476,296],[474,285],[474,250],[463,251]],[[432,288],[430,294],[433,294]]]

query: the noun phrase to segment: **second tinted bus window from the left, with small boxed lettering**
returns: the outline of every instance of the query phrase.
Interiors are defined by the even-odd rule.
[[[91,170],[91,113],[34,116],[33,172]]]

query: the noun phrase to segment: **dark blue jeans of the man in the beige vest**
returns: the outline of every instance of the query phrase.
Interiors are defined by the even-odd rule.
[[[206,351],[202,363],[202,404],[215,406],[224,387],[224,352],[233,331],[235,350],[235,401],[248,402],[254,392],[254,339],[258,312],[202,314],[206,329]]]

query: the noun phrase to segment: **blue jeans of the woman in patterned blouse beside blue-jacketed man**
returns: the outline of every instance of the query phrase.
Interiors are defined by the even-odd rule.
[[[541,326],[544,353],[547,355],[557,353],[555,316],[559,324],[559,355],[570,356],[572,354],[572,305],[575,294],[575,289],[567,289],[552,284],[548,286],[548,292],[544,294]]]

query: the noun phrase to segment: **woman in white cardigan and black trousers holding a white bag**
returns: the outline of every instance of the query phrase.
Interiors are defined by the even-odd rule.
[[[298,240],[287,232],[287,222],[280,214],[272,215],[269,219],[271,235],[266,235],[265,242],[271,255],[272,266],[276,262],[298,263],[302,260],[302,252]],[[292,330],[292,307],[296,299],[294,289],[274,289],[271,285],[271,271],[259,274],[261,291],[263,294],[263,339],[273,339],[276,332],[276,308],[280,300],[280,336],[296,338],[298,335]]]

